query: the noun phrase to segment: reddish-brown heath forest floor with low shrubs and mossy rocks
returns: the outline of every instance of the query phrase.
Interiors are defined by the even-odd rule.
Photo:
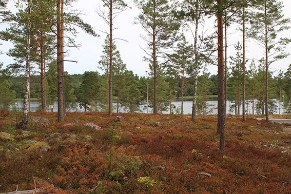
[[[288,123],[229,116],[222,153],[214,116],[30,117],[0,112],[0,193],[291,193]]]

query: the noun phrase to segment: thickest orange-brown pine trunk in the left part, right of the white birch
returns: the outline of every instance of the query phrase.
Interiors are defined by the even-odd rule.
[[[64,84],[63,84],[63,70],[64,70],[64,37],[62,25],[62,5],[63,0],[57,3],[57,9],[60,10],[57,16],[57,120],[64,121]]]

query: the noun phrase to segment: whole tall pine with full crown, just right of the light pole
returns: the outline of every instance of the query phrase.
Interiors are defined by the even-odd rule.
[[[158,113],[157,98],[157,79],[160,76],[158,72],[161,70],[161,62],[158,57],[164,49],[169,48],[173,44],[173,38],[180,25],[172,14],[172,6],[168,4],[167,0],[146,0],[135,1],[138,8],[141,10],[137,18],[137,23],[141,24],[147,37],[143,37],[148,43],[147,53],[149,57],[145,60],[150,62],[150,69],[153,72],[153,114]]]

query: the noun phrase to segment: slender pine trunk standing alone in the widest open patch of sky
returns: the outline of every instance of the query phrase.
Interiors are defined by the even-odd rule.
[[[112,23],[112,20],[113,20],[113,17],[112,17],[112,0],[110,0],[110,41],[109,41],[109,100],[108,100],[108,114],[109,115],[112,115],[112,26],[113,26],[113,23]]]

